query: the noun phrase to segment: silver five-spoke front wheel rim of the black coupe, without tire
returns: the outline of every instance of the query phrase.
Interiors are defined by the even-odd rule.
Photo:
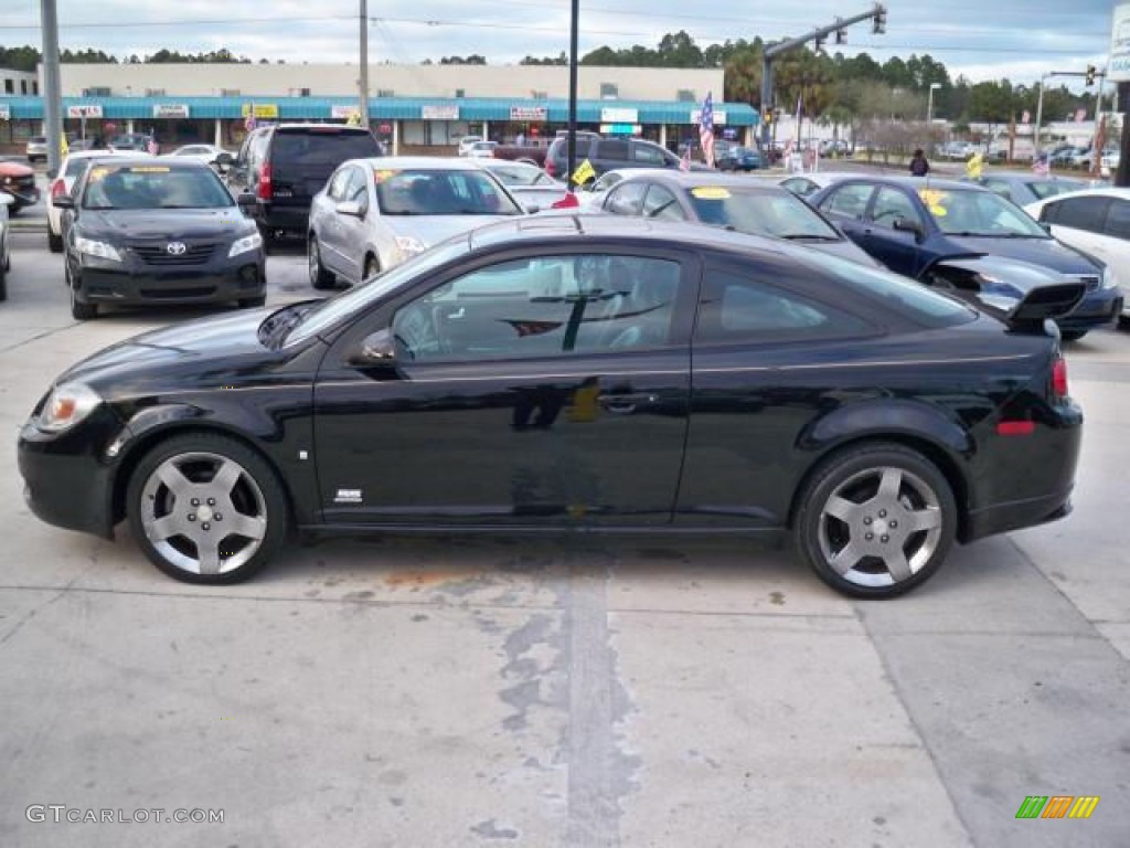
[[[259,484],[218,453],[179,453],[141,490],[141,526],[171,565],[193,574],[226,574],[246,563],[267,535]]]

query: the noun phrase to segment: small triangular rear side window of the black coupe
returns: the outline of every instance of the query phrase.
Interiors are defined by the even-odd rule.
[[[729,270],[707,269],[695,341],[772,341],[867,336],[843,310]]]

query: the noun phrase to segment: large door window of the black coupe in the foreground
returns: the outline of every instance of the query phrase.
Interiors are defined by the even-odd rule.
[[[568,356],[668,343],[676,261],[548,256],[492,265],[400,309],[398,356],[472,362]]]

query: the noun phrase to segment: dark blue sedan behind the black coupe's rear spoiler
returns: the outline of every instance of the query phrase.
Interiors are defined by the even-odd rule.
[[[977,185],[860,174],[808,201],[890,270],[979,305],[1007,310],[1037,286],[1064,277],[1084,283],[1084,300],[1057,321],[1068,341],[1122,312],[1122,292],[1101,261],[1057,241],[1015,204]]]

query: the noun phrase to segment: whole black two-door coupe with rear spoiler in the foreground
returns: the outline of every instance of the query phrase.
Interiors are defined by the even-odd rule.
[[[110,347],[19,438],[43,520],[129,521],[163,571],[242,580],[288,530],[790,530],[840,591],[1069,510],[1083,416],[1054,326],[678,224],[542,217],[320,302]],[[1048,293],[1045,293],[1048,294]]]

